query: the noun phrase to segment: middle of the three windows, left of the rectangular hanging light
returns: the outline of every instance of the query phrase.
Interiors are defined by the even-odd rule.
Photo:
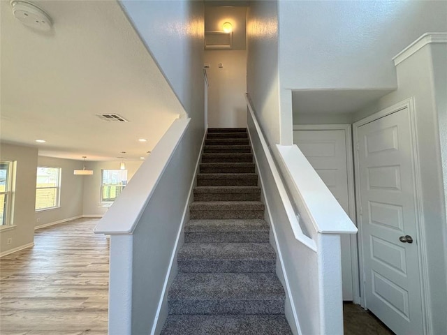
[[[59,207],[60,168],[37,168],[36,211]]]

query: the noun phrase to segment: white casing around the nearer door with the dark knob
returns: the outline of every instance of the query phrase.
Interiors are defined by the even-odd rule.
[[[447,36],[447,34],[446,34]],[[382,117],[386,117],[389,114],[393,114],[395,112],[399,112],[400,110],[407,109],[409,112],[409,120],[410,120],[410,135],[411,135],[411,151],[412,151],[412,168],[413,168],[413,180],[414,180],[414,201],[415,201],[415,211],[416,211],[416,244],[418,246],[418,262],[419,262],[419,281],[420,281],[420,295],[421,295],[421,304],[422,304],[422,321],[423,321],[423,332],[424,334],[432,334],[432,324],[431,320],[431,310],[430,310],[430,290],[429,290],[429,281],[428,281],[428,262],[427,262],[427,248],[426,248],[426,240],[425,240],[425,220],[423,215],[423,193],[422,186],[420,180],[420,166],[419,166],[419,154],[418,154],[418,133],[416,131],[416,105],[414,103],[414,98],[408,98],[404,101],[400,101],[395,105],[392,105],[384,110],[376,112],[365,119],[361,119],[353,124],[353,140],[358,143],[358,128],[365,124],[369,124],[369,122],[375,121],[377,119],[381,119]],[[356,171],[360,170],[360,163],[358,161],[358,153],[355,151],[354,158],[356,161]],[[360,185],[360,178],[358,173],[356,173],[356,185]],[[360,187],[356,187],[356,195],[357,195],[357,215],[360,217]],[[358,221],[358,230],[359,236],[359,255],[360,255],[360,271],[364,272],[364,263],[365,263],[365,252],[363,250],[363,239],[362,239],[362,226],[361,221]],[[367,301],[365,296],[365,282],[360,281],[360,290],[362,293],[362,306],[367,308]]]

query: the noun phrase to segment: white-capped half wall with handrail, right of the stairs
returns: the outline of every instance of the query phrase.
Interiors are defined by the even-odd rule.
[[[286,317],[294,334],[343,334],[340,234],[357,229],[298,147],[269,146],[248,96],[247,107],[266,219],[281,265],[277,272],[286,289]]]

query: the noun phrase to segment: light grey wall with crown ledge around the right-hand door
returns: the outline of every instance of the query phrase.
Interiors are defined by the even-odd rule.
[[[417,149],[419,154],[420,184],[422,188],[423,228],[427,251],[428,276],[433,334],[446,334],[447,301],[447,228],[439,144],[438,101],[435,93],[443,92],[434,80],[447,74],[446,48],[425,45],[396,67],[399,88],[354,115],[354,121],[414,97],[416,112]],[[436,75],[433,59],[436,60]],[[436,85],[436,86],[435,86]],[[444,91],[442,91],[444,89]],[[445,125],[443,126],[445,128]]]

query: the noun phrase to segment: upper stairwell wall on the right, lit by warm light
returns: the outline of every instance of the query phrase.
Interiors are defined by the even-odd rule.
[[[247,10],[247,92],[268,143],[279,143],[277,1],[251,1]]]

